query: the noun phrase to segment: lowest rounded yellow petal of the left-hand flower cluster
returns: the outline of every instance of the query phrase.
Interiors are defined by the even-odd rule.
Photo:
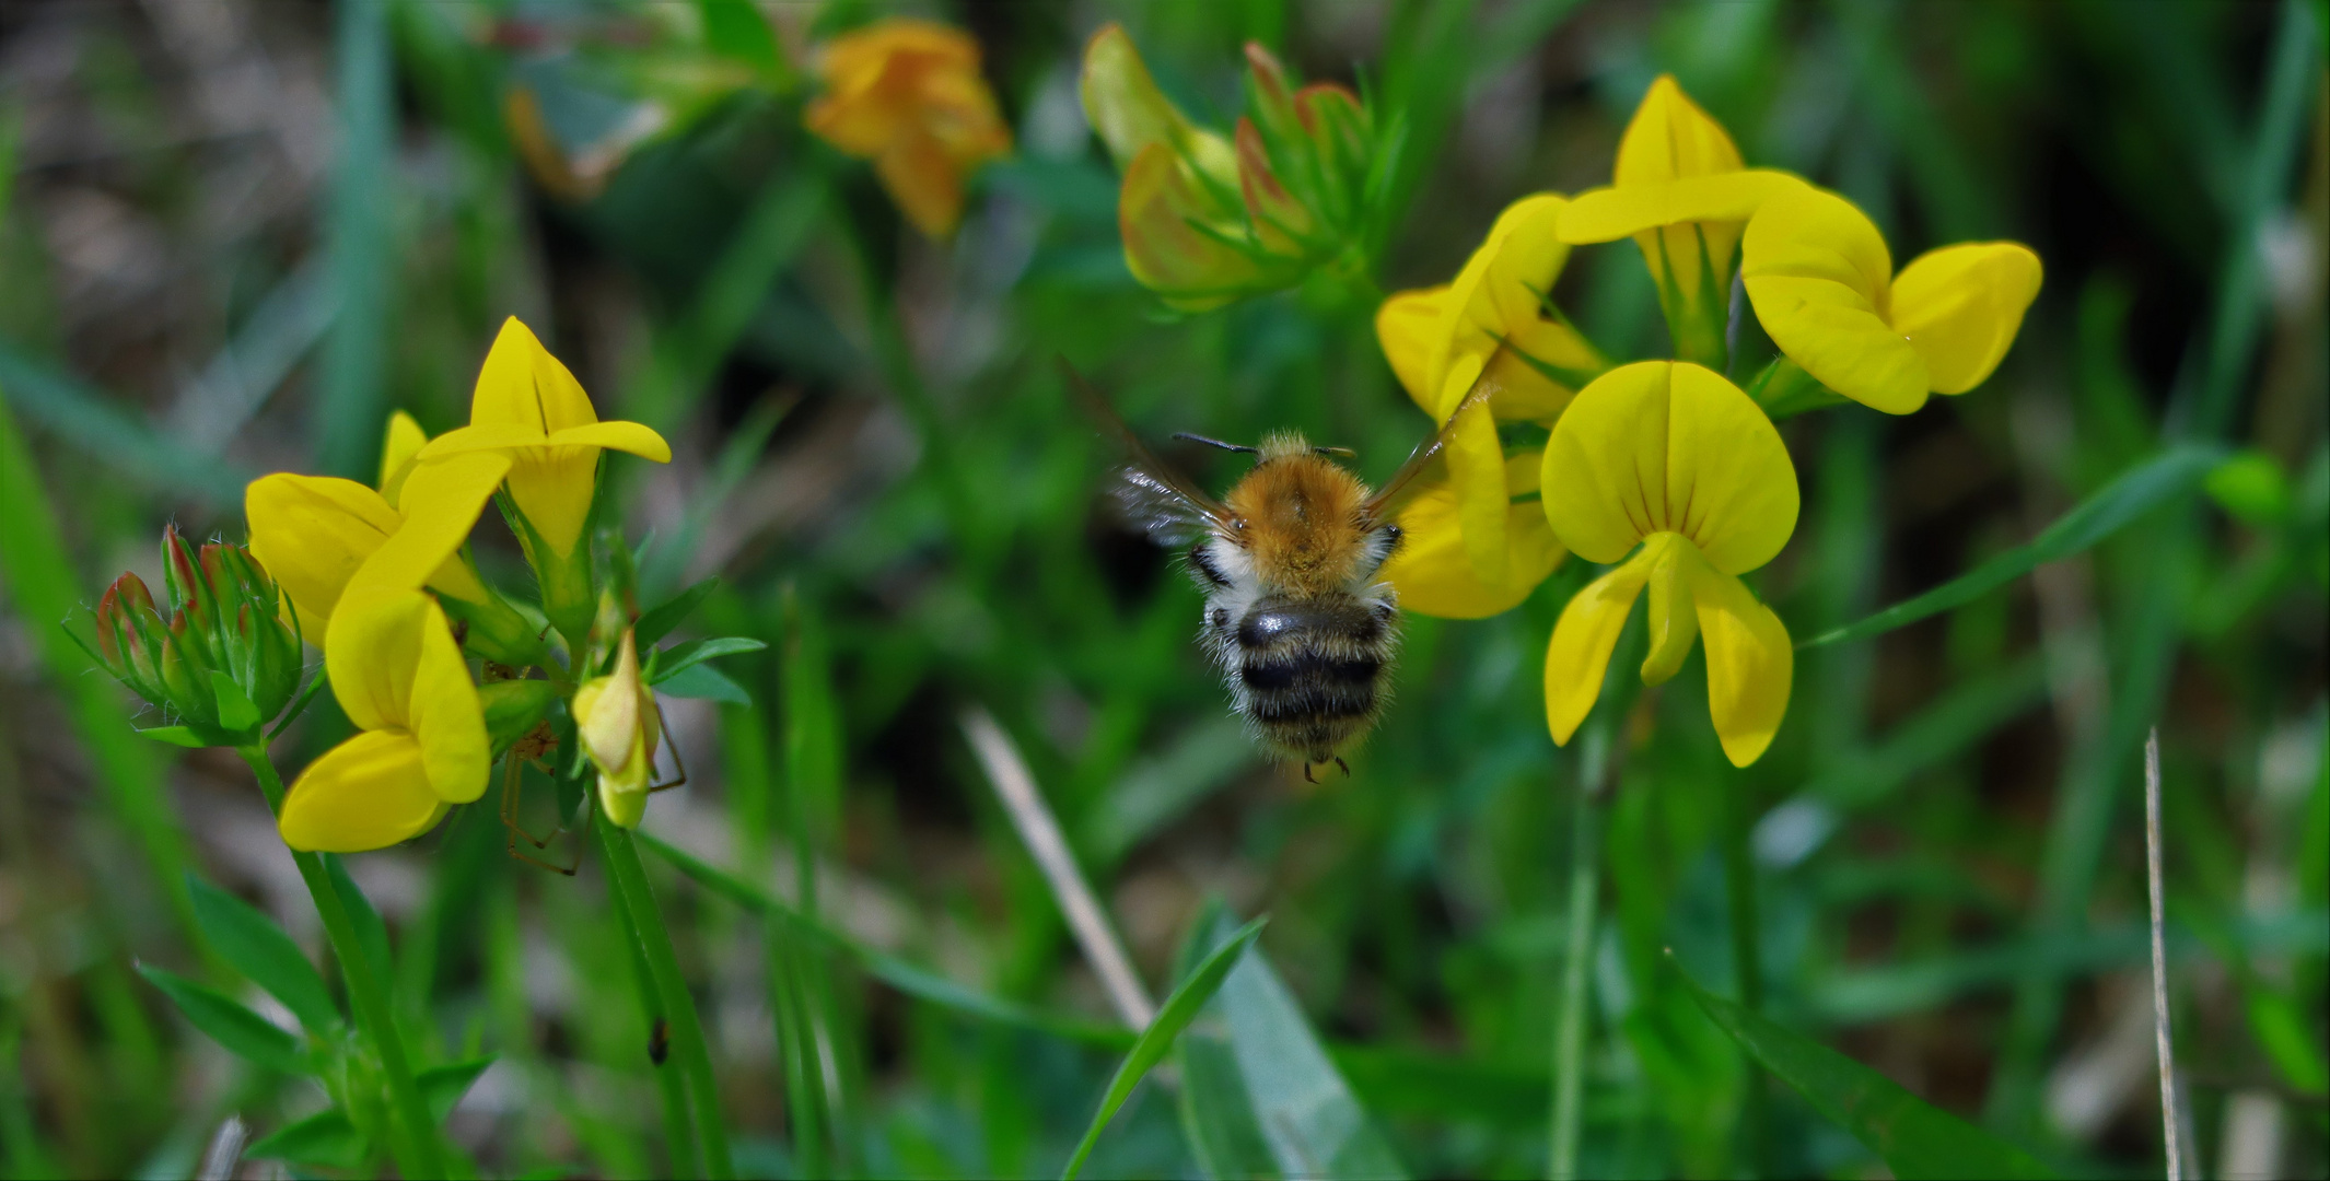
[[[375,729],[308,764],[275,825],[301,853],[363,853],[410,841],[440,815],[445,801],[429,790],[419,743]]]

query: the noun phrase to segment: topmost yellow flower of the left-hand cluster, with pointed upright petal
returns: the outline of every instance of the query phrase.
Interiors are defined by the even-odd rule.
[[[417,459],[508,454],[510,498],[550,547],[548,557],[564,561],[582,540],[592,496],[599,492],[599,452],[608,447],[657,464],[671,461],[671,445],[648,426],[599,422],[576,375],[550,356],[531,328],[510,317],[478,370],[468,426],[429,440]]]

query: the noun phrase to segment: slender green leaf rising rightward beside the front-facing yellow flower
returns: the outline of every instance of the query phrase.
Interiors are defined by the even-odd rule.
[[[2006,550],[2004,554],[1997,554],[1906,603],[1894,603],[1857,624],[1813,636],[1796,648],[1864,641],[1869,636],[1880,636],[1897,627],[1925,620],[1927,615],[1967,606],[1974,599],[2022,578],[2046,561],[2062,561],[2109,538],[2111,533],[2118,533],[2137,517],[2144,517],[2162,503],[2190,492],[2223,457],[2223,447],[2200,443],[2169,447],[2167,452],[2137,464],[2118,480],[2104,485],[2102,492],[2088,496],[2078,508],[2064,512],[2055,524],[2046,526],[2046,531],[2029,545],[2015,545],[2013,550]]]

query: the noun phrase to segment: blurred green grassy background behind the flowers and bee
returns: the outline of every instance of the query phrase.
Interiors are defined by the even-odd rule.
[[[1016,137],[948,242],[802,130],[811,47],[897,12],[979,40]],[[1734,818],[1754,825],[1775,1020],[2062,1172],[2158,1174],[2155,724],[2188,1176],[2330,1172],[2323,5],[757,14],[774,58],[685,2],[0,7],[0,1172],[186,1176],[228,1113],[263,1134],[322,1106],[133,974],[205,964],[189,867],[312,948],[319,932],[245,769],[128,736],[126,694],[58,622],[123,568],[156,580],[163,522],[240,540],[259,473],[368,478],[391,408],[461,424],[520,314],[601,415],[673,443],[669,468],[613,468],[652,538],[648,594],[718,573],[704,634],[771,643],[727,664],[748,703],[666,701],[690,783],[645,822],[776,899],[811,887],[846,936],[655,867],[743,1169],[1055,1174],[1083,1132],[1123,1039],[965,743],[986,708],[1153,992],[1216,906],[1268,913],[1258,946],[1298,1006],[1282,1018],[1307,1018],[1335,1065],[1319,1079],[1400,1167],[1542,1174],[1582,773],[1545,734],[1538,669],[1589,568],[1494,620],[1410,617],[1396,706],[1349,780],[1307,785],[1247,745],[1193,643],[1198,594],[1107,510],[1111,457],[1053,356],[1156,440],[1293,426],[1382,478],[1428,422],[1372,305],[1177,317],[1132,282],[1076,100],[1111,19],[1214,126],[1240,109],[1247,40],[1398,112],[1384,291],[1445,282],[1512,198],[1605,184],[1657,72],[1750,163],[1859,203],[1897,259],[2032,245],[2046,289],[1985,387],[1782,424],[1806,505],[1759,589],[1796,636],[2032,538],[2165,438],[2253,447],[2211,496],[2081,557],[1806,652],[1745,773],[1715,750],[1703,678],[1645,696],[1589,834],[1584,1174],[1880,1169],[1759,1081],[1678,981],[1736,992]],[[1580,249],[1559,300],[1617,359],[1666,349],[1633,247]],[[1167,454],[1216,487],[1242,471]],[[522,585],[499,524],[478,557]],[[287,769],[345,734],[329,706],[277,748]],[[659,1174],[599,867],[508,857],[492,804],[350,857],[394,936],[408,1039],[499,1055],[452,1137],[489,1176]],[[1207,1167],[1177,1097],[1195,1053],[1090,1174]]]

